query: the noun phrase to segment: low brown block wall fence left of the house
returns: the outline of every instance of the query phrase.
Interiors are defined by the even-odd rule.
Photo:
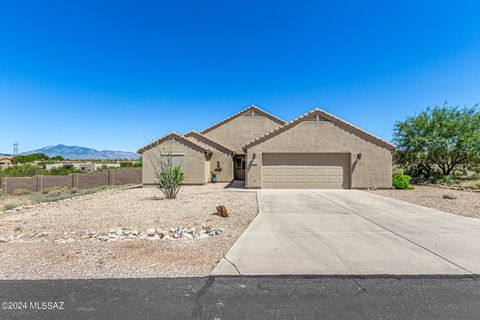
[[[32,192],[42,192],[53,187],[88,189],[99,186],[141,183],[142,168],[73,173],[68,176],[6,177],[2,180],[2,194],[9,195],[15,189],[20,188]]]

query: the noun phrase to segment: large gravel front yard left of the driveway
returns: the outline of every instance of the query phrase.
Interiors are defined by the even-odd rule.
[[[205,276],[257,214],[255,192],[184,186],[175,200],[155,187],[110,190],[0,215],[1,279]],[[229,217],[214,213],[225,205]],[[110,229],[221,228],[217,236],[99,241]],[[38,236],[39,233],[45,236]],[[68,242],[59,239],[67,239]],[[111,240],[111,239],[109,239]],[[116,240],[116,239],[115,239]]]

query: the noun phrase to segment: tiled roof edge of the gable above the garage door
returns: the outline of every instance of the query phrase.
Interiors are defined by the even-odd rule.
[[[396,149],[396,146],[391,144],[390,142],[386,141],[386,140],[383,140],[371,133],[368,133],[367,131],[363,130],[363,129],[360,129],[356,126],[354,126],[353,124],[350,124],[348,123],[347,121],[344,121],[324,110],[321,110],[319,108],[315,108],[313,109],[312,111],[304,114],[304,115],[301,115],[300,117],[290,121],[289,123],[275,129],[275,130],[272,130],[268,133],[266,133],[265,135],[261,136],[261,137],[258,137],[256,138],[255,140],[245,144],[243,146],[243,150],[247,150],[248,148],[250,147],[253,147],[257,144],[260,144],[264,141],[267,141],[269,140],[270,138],[273,138],[274,136],[284,132],[284,131],[287,131],[288,129],[291,129],[293,127],[295,127],[296,125],[298,125],[299,123],[302,123],[303,121],[330,121],[330,122],[333,122],[335,123],[336,125],[338,125],[339,127],[342,127],[344,129],[346,129],[347,131],[350,131],[351,133],[354,133],[356,134],[357,136],[360,136],[370,142],[373,142],[375,144],[377,144],[378,146],[380,147],[383,147],[383,148],[386,148],[388,150],[394,150]]]

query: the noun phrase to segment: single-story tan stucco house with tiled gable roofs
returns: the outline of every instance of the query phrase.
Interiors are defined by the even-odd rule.
[[[185,184],[245,180],[246,188],[391,188],[395,146],[318,108],[285,122],[250,106],[201,131],[172,132],[144,146],[143,184],[169,153]]]

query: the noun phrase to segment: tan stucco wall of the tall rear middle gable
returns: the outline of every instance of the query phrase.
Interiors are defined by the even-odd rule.
[[[243,145],[279,126],[277,122],[265,116],[251,116],[251,113],[247,111],[245,115],[240,115],[211,131],[205,132],[204,135],[233,148],[236,154],[244,154]]]

